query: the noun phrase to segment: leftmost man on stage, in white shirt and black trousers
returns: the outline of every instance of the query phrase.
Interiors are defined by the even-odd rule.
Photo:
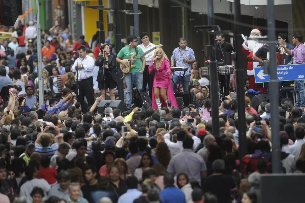
[[[78,86],[78,96],[77,101],[80,102],[80,105],[83,106],[85,103],[85,96],[88,101],[88,105],[92,105],[95,101],[93,96],[93,70],[94,70],[94,59],[88,56],[86,52],[86,47],[78,47],[79,58],[77,58],[72,66],[72,72],[76,73],[76,77],[79,80]],[[77,81],[77,79],[76,79]]]

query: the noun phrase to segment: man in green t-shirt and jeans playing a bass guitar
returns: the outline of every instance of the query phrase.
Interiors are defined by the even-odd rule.
[[[135,47],[138,45],[138,38],[134,35],[130,35],[127,37],[127,42],[129,43],[129,46],[122,48],[116,58],[116,62],[121,63],[125,67],[128,67],[129,63],[128,62],[126,63],[122,59],[129,59],[130,55],[136,53]],[[142,53],[143,50],[140,47],[138,47],[138,54],[134,58],[141,55]],[[133,84],[136,83],[136,89],[143,88],[143,71],[145,69],[144,56],[142,56],[141,60],[140,59],[137,60],[132,65],[134,65],[135,67],[131,69],[131,73],[125,74],[125,83],[127,87],[126,106],[130,110],[132,110],[131,101],[132,101]]]

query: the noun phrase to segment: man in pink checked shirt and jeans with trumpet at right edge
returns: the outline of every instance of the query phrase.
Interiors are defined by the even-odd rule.
[[[292,36],[293,46],[295,47],[292,50],[289,50],[283,44],[280,44],[280,47],[283,47],[287,53],[293,57],[293,64],[303,64],[305,63],[305,47],[302,44],[303,36],[301,33],[296,33]],[[295,107],[305,108],[305,80],[295,80],[294,81],[294,91],[296,93],[297,101]]]

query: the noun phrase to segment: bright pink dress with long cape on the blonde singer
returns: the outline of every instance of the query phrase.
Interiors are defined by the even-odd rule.
[[[156,70],[156,65],[153,65],[153,60],[150,63],[150,65],[148,66],[148,71],[149,74],[151,74],[152,70],[155,69],[155,77],[153,80],[153,86],[152,87],[159,87],[159,88],[165,88],[167,89],[167,100],[171,101],[172,106],[174,106],[175,108],[178,108],[178,104],[174,95],[174,91],[173,91],[173,87],[172,87],[172,71],[170,70],[170,65],[169,65],[169,60],[164,58],[164,60],[162,61],[159,70]],[[169,75],[166,74],[166,72],[169,71]],[[167,107],[167,104],[165,103],[164,99],[161,97],[160,95],[160,100],[161,100],[161,107]],[[152,108],[153,109],[158,109],[158,105],[156,103],[155,100],[155,95],[154,95],[154,91],[152,88]]]

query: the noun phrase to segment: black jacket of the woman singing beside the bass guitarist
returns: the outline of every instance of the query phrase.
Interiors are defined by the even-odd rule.
[[[97,82],[103,81],[103,68],[104,68],[103,60],[106,61],[106,59],[103,56],[97,55],[97,60],[95,61],[95,65],[100,67],[100,69],[97,72]],[[108,65],[109,69],[105,69],[105,71],[107,71],[111,75],[113,81],[116,83],[116,78],[113,74],[113,69],[116,68],[116,62],[115,62],[114,56],[112,56],[112,55],[108,56],[108,64],[109,64]],[[107,80],[107,78],[106,78],[106,80]]]

